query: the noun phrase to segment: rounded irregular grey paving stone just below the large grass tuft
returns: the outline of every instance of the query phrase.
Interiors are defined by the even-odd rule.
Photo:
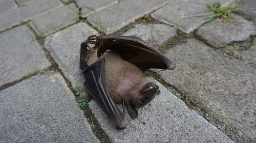
[[[236,16],[236,19],[243,23],[224,22],[221,19],[216,19],[202,25],[197,30],[196,35],[216,48],[225,47],[230,42],[244,41],[250,35],[256,35],[256,26],[253,26],[252,22],[241,16]]]

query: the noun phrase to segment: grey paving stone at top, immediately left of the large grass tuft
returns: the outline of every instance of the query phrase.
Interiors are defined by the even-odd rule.
[[[198,15],[208,15],[213,12],[202,12],[207,9],[205,3],[214,4],[216,2],[221,2],[225,4],[227,0],[181,0],[175,1],[166,5],[165,7],[152,13],[152,17],[162,21],[164,23],[175,26],[176,28],[181,28],[185,33],[190,33],[198,28],[203,22],[207,21],[209,17],[191,17]],[[201,12],[201,13],[198,13]],[[188,18],[190,17],[190,18]]]

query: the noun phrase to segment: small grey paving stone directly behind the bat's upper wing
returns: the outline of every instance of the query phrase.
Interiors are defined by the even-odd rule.
[[[138,35],[148,44],[159,48],[164,41],[176,36],[176,29],[165,24],[137,24],[123,35]]]

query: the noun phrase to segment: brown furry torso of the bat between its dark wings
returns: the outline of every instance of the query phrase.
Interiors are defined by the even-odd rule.
[[[105,58],[105,82],[115,102],[124,101],[125,104],[132,102],[136,106],[142,106],[139,93],[146,84],[144,73],[111,50],[107,50],[100,58],[97,58],[97,50],[92,48],[85,59],[88,65],[91,65],[101,58]]]

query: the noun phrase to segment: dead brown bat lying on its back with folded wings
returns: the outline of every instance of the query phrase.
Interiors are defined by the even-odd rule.
[[[91,48],[88,44],[95,46]],[[147,104],[160,93],[155,83],[145,81],[143,72],[175,67],[175,62],[136,35],[92,35],[81,43],[79,68],[86,77],[84,87],[120,130],[126,128],[124,104],[135,119],[136,107]],[[123,112],[116,103],[122,103]]]

